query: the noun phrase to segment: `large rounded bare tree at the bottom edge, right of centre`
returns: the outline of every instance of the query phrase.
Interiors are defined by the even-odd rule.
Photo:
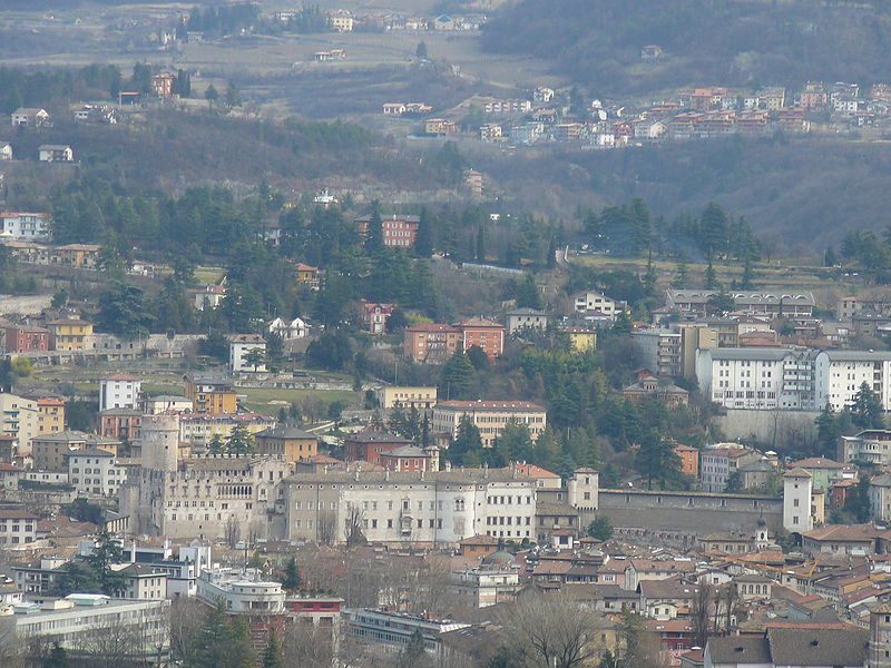
[[[519,648],[529,668],[575,668],[606,649],[596,640],[599,616],[562,593],[526,597],[501,621],[508,647]]]

